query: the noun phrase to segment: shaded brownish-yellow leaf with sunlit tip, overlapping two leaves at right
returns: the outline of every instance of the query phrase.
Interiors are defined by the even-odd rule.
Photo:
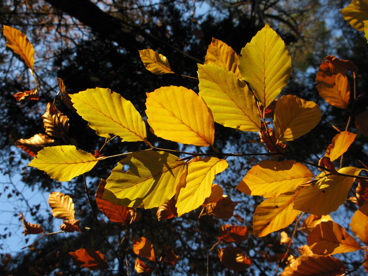
[[[361,170],[355,167],[344,167],[338,170],[338,172],[358,175]],[[354,177],[324,176],[298,195],[294,203],[294,209],[317,216],[328,215],[336,211],[346,201],[354,181]]]

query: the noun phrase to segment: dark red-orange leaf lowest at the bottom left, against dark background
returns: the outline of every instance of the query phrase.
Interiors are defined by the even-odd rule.
[[[93,249],[78,249],[75,252],[69,252],[73,260],[73,264],[76,266],[82,266],[89,270],[103,270],[109,268],[105,257],[100,251]]]

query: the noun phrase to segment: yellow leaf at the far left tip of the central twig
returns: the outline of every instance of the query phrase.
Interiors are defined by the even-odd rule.
[[[45,171],[52,179],[69,181],[90,171],[97,161],[91,153],[75,146],[52,146],[39,151],[28,166]]]

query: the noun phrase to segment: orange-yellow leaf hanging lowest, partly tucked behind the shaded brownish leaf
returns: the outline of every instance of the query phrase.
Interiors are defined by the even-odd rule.
[[[263,201],[253,215],[254,236],[264,237],[293,223],[301,211],[293,210],[294,200],[300,191],[281,194]]]

